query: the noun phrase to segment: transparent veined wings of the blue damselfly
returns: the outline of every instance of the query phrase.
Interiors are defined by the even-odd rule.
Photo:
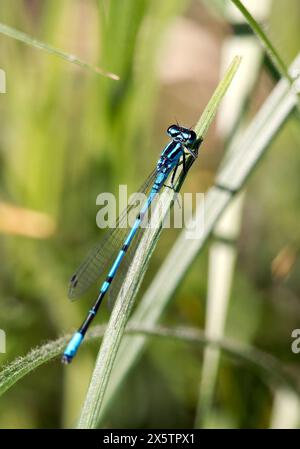
[[[139,213],[139,209],[137,209],[136,205],[138,194],[147,194],[151,189],[156,176],[157,171],[155,169],[146,179],[141,188],[136,192],[136,195],[132,196],[128,206],[119,216],[116,227],[110,229],[103,236],[102,240],[100,240],[98,245],[90,251],[77,271],[73,274],[70,280],[68,292],[70,299],[73,300],[81,296],[92,284],[97,281],[97,279],[101,277],[102,274],[107,274],[106,272],[109,270],[118,252],[122,248],[123,242],[128,234],[128,227],[122,226],[122,224],[124,224],[125,220],[127,220],[128,214],[132,210],[136,209],[136,215]],[[139,204],[139,206],[139,208],[142,207],[141,204]],[[136,243],[134,246],[136,246]],[[121,263],[121,266],[122,265],[123,261]],[[125,263],[125,265],[127,264]]]

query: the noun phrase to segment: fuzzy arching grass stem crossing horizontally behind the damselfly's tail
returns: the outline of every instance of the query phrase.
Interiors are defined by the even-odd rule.
[[[86,336],[83,344],[87,344],[103,337],[105,326],[93,327]],[[158,337],[181,342],[192,343],[200,347],[211,346],[222,349],[227,355],[243,363],[252,365],[259,369],[262,374],[270,379],[284,384],[293,389],[297,394],[300,393],[299,385],[295,382],[288,371],[279,360],[272,355],[260,351],[248,345],[242,345],[229,339],[212,339],[207,337],[204,332],[194,328],[170,328],[162,326],[143,327],[129,325],[126,328],[127,335],[140,335],[143,337]],[[33,349],[24,357],[18,357],[13,362],[7,364],[0,372],[0,396],[8,391],[13,385],[25,376],[30,374],[44,363],[54,361],[63,353],[66,343],[71,335],[65,335],[57,340],[48,342],[38,348]]]

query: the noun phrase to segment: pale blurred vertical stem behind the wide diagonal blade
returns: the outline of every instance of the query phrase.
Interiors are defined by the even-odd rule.
[[[264,9],[266,3],[259,6],[260,18],[267,17]],[[257,13],[259,10],[256,11]],[[230,23],[235,21],[236,8],[227,2],[224,14]],[[244,20],[241,23],[245,23]],[[257,41],[254,33],[247,39],[233,28],[234,35],[230,35],[223,42],[221,52],[221,66],[227,66],[236,48],[243,55],[243,64],[236,77],[235,89],[230,97],[223,102],[219,109],[217,131],[223,142],[238,138],[245,124],[245,113],[248,101],[253,94],[258,75],[262,66],[264,49]],[[249,45],[251,42],[251,45]],[[273,66],[273,65],[272,65]],[[221,67],[221,73],[223,73]],[[232,147],[232,145],[231,145]],[[244,195],[239,195],[227,208],[214,229],[208,255],[207,293],[205,306],[205,332],[207,336],[222,339],[225,336],[225,323],[229,312],[230,291],[235,271],[237,248],[236,239],[239,234],[241,212]],[[232,245],[225,243],[230,238]],[[206,347],[203,352],[201,376],[199,380],[199,394],[196,407],[194,427],[210,427],[214,411],[214,397],[217,389],[218,374],[222,352],[218,349]]]

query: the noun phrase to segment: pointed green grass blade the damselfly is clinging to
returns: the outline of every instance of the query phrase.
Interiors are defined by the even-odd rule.
[[[208,106],[203,112],[197,126],[196,133],[198,138],[203,138],[211,124],[217,108],[227,91],[235,72],[238,69],[241,59],[234,58],[223,80],[217,87]],[[189,158],[189,166],[192,164],[192,158]],[[178,182],[178,190],[181,187],[185,175],[182,175]],[[78,427],[79,428],[95,428],[97,427],[101,412],[104,394],[108,385],[112,367],[121,344],[121,339],[125,330],[127,320],[130,316],[134,304],[138,287],[142,281],[146,267],[149,262],[150,255],[153,252],[155,244],[161,230],[163,218],[174,200],[173,192],[170,193],[166,189],[160,197],[159,206],[163,208],[162,214],[156,214],[156,229],[147,229],[144,239],[142,240],[137,254],[133,260],[130,272],[124,282],[122,290],[118,296],[116,305],[112,311],[107,330],[98,354],[96,366],[92,375],[92,380],[88,389],[85,403],[81,412]],[[159,209],[158,207],[157,209]]]

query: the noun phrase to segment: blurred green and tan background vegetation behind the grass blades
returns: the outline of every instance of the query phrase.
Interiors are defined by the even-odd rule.
[[[152,170],[165,129],[192,126],[219,79],[233,29],[225,2],[198,0],[2,0],[0,21],[117,73],[113,81],[0,36],[0,365],[80,324],[93,298],[70,303],[70,275],[98,241],[96,197],[134,190]],[[287,13],[288,4],[288,13]],[[285,17],[285,20],[282,20]],[[268,35],[285,62],[296,56],[300,5],[276,0]],[[262,69],[248,111],[254,115],[274,79]],[[231,90],[228,95],[231,94]],[[291,331],[300,323],[299,118],[272,144],[247,189],[226,334],[278,357],[299,372]],[[212,185],[225,151],[216,127],[184,191]],[[37,213],[37,214],[36,214]],[[178,231],[163,232],[142,292]],[[163,323],[203,328],[208,245],[189,270]],[[103,307],[97,318],[104,322]],[[0,427],[73,426],[98,343],[71,367],[49,363],[3,397]],[[107,427],[191,427],[202,350],[149,341],[106,417]],[[270,425],[272,386],[249,366],[222,356],[210,426]]]

